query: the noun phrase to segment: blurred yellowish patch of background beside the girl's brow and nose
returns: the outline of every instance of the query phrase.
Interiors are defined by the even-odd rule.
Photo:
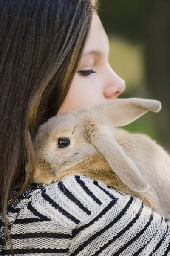
[[[113,70],[126,81],[127,90],[141,86],[144,78],[142,44],[134,44],[113,35],[108,37],[111,49],[109,62]]]

